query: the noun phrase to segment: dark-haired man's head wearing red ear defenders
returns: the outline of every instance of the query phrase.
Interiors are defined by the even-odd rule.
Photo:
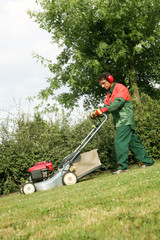
[[[103,88],[108,90],[113,86],[114,78],[110,73],[104,72],[98,76],[98,81]]]

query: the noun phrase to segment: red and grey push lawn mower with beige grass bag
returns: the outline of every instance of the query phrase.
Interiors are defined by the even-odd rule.
[[[56,173],[53,173],[53,163],[48,161],[38,162],[29,168],[29,181],[20,186],[20,192],[31,194],[61,185],[73,185],[80,178],[100,168],[102,164],[97,149],[82,154],[81,151],[107,121],[107,115],[103,114],[103,117],[102,122],[99,117],[95,117],[96,126],[93,126],[76,150],[61,161]]]

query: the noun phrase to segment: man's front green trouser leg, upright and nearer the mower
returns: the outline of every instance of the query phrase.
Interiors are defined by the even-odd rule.
[[[118,127],[115,137],[115,152],[118,169],[128,168],[128,150],[132,131],[130,126]]]

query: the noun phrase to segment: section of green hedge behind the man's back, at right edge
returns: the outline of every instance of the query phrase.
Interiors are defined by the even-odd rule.
[[[153,160],[160,157],[160,100],[153,100],[146,94],[141,96],[142,104],[134,103],[137,134]]]

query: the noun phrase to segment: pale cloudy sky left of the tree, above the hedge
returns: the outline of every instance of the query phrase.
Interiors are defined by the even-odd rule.
[[[33,58],[32,53],[56,62],[58,46],[51,36],[27,14],[37,7],[35,0],[0,0],[0,119],[21,108],[32,113],[38,102],[28,97],[47,87],[52,74]]]

